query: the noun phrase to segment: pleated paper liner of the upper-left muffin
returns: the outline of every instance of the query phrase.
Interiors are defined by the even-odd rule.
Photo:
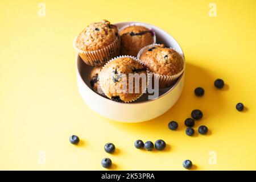
[[[113,57],[118,56],[121,49],[121,38],[119,35],[112,44],[96,51],[82,51],[76,47],[76,41],[77,37],[73,42],[73,47],[79,53],[81,59],[90,66],[104,65]]]

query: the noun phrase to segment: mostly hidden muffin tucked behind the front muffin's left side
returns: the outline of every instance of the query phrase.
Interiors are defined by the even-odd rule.
[[[98,77],[100,75],[101,69],[102,66],[93,67],[89,75],[89,80],[92,90],[101,96],[105,96],[100,86],[100,78]]]

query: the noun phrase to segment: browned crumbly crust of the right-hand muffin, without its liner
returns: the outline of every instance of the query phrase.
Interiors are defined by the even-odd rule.
[[[145,50],[140,56],[140,60],[149,71],[166,76],[176,75],[184,67],[184,60],[179,53],[165,47],[164,44]]]

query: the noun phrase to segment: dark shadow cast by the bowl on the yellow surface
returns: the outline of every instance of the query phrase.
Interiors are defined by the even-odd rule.
[[[200,124],[207,125],[207,119],[211,115],[223,114],[225,102],[228,102],[218,92],[228,92],[229,85],[225,84],[223,89],[217,89],[213,85],[214,80],[216,80],[216,77],[210,75],[210,72],[188,61],[185,72],[184,90],[179,100],[170,110],[150,121],[140,123],[114,122],[114,124],[121,128],[124,127],[125,130],[131,130],[131,132],[138,130],[139,133],[142,129],[148,131],[154,129],[154,131],[159,130],[161,133],[166,131],[168,122],[174,120],[180,124],[178,130],[185,130],[185,126],[183,125],[185,119],[191,118],[191,111],[193,109],[200,109],[203,111],[204,117],[196,122],[196,126]],[[203,97],[197,97],[194,94],[194,89],[198,86],[205,89]]]

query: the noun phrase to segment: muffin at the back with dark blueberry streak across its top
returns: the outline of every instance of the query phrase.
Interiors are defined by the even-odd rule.
[[[155,33],[144,26],[130,25],[120,30],[121,55],[137,56],[143,47],[155,43]]]

